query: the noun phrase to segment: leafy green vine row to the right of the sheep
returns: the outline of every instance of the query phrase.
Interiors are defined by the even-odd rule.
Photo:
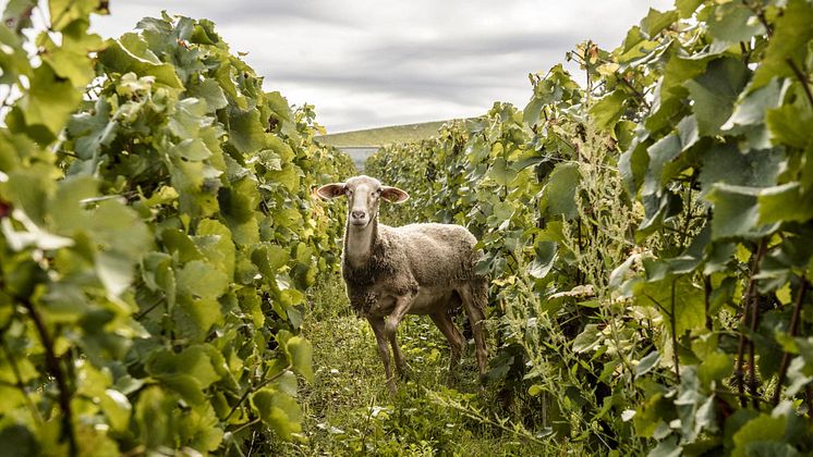
[[[468,225],[489,379],[597,455],[813,452],[813,5],[677,0],[439,137],[381,149],[390,222]],[[532,411],[527,411],[531,416]],[[570,444],[568,444],[570,443]]]

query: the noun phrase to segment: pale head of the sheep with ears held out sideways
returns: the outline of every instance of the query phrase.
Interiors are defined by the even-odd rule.
[[[381,199],[401,203],[410,198],[405,192],[369,176],[353,176],[345,183],[326,184],[315,190],[324,199],[341,196],[348,197],[348,224],[364,228],[378,217],[378,205]]]

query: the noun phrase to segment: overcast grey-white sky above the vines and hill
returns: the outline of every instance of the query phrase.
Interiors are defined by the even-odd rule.
[[[329,133],[524,107],[529,73],[565,62],[592,38],[605,49],[671,0],[250,1],[113,0],[94,29],[131,30],[141,17],[209,18],[266,90],[316,106]]]

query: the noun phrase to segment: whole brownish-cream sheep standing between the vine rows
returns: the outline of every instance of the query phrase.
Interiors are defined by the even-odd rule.
[[[452,321],[461,306],[472,325],[481,378],[486,372],[485,306],[487,280],[475,273],[482,256],[477,239],[465,227],[421,223],[390,227],[378,223],[381,199],[406,201],[409,195],[361,175],[345,183],[315,190],[323,199],[345,196],[348,218],[341,270],[350,305],[359,318],[369,322],[384,362],[387,387],[396,393],[390,367],[392,346],[398,374],[405,375],[405,360],[396,333],[405,314],[428,314],[449,341],[450,373],[460,362],[465,339]]]

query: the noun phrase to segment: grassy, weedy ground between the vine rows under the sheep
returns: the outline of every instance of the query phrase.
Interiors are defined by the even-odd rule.
[[[303,439],[280,455],[543,455],[538,443],[488,423],[498,402],[477,383],[473,346],[449,380],[449,349],[425,317],[409,316],[399,341],[410,363],[392,397],[366,321],[350,312],[339,275],[316,286],[303,334],[314,345],[315,380],[300,396]],[[496,416],[495,416],[496,417]],[[494,422],[494,421],[493,421]]]

